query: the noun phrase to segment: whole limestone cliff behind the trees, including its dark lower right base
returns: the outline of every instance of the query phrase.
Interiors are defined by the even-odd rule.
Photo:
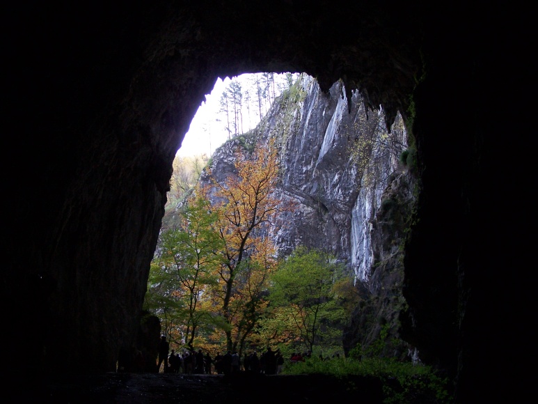
[[[399,162],[407,147],[402,118],[389,134],[382,111],[367,111],[356,92],[348,105],[344,93],[340,82],[323,93],[315,79],[301,75],[255,130],[216,150],[212,173],[223,180],[234,172],[237,148],[276,139],[276,193],[296,208],[280,217],[272,237],[282,256],[299,244],[326,249],[354,274],[363,302],[346,332],[348,350],[368,345],[385,323],[397,336],[400,246],[413,195],[411,176]]]

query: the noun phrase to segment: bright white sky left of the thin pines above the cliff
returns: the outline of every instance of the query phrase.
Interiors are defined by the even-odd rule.
[[[251,84],[248,80],[252,75],[240,75],[236,77],[239,80],[242,88],[246,89]],[[285,75],[276,75],[275,80],[284,79]],[[211,157],[216,148],[221,146],[226,140],[228,140],[228,132],[224,129],[226,123],[219,121],[219,109],[222,93],[230,85],[231,79],[218,79],[211,94],[205,95],[205,102],[202,102],[198,111],[194,116],[189,132],[185,134],[181,148],[177,150],[176,155],[179,157],[191,157],[194,155],[203,155]],[[251,130],[258,125],[258,117],[255,114],[243,114],[243,129],[244,131]],[[251,122],[248,122],[251,119]],[[258,121],[253,121],[257,119]]]

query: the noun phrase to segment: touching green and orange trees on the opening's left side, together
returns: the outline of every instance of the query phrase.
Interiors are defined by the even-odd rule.
[[[227,350],[240,352],[268,305],[277,260],[267,235],[276,215],[290,208],[274,195],[276,147],[239,150],[235,169],[220,181],[208,169],[211,182],[193,190],[153,261],[148,304],[189,349],[212,327],[223,332]]]

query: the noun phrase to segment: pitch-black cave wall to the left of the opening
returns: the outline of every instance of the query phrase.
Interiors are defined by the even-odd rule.
[[[139,327],[175,150],[214,76],[159,45],[163,10],[17,11],[27,48],[11,46],[28,64],[10,87],[23,134],[8,182],[10,332],[37,309],[45,371],[113,371]]]

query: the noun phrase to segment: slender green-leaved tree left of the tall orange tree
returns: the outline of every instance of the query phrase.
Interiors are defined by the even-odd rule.
[[[212,308],[207,288],[216,283],[216,251],[222,248],[214,233],[216,214],[203,198],[191,201],[181,213],[180,228],[161,235],[159,257],[150,272],[148,302],[164,317],[168,332],[178,344],[193,350],[200,327],[212,325]]]

